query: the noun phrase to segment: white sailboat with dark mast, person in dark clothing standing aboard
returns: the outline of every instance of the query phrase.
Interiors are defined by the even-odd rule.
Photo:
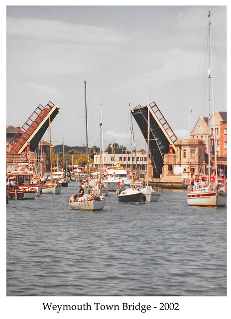
[[[71,209],[75,210],[100,210],[105,207],[106,201],[104,194],[97,194],[89,191],[89,154],[88,154],[88,118],[87,118],[87,95],[86,95],[86,81],[84,81],[85,88],[85,112],[86,112],[86,154],[87,154],[87,188],[88,193],[81,197],[78,195],[71,195],[69,198],[69,205]]]

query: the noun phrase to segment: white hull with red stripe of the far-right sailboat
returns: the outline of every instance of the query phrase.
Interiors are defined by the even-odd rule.
[[[226,206],[227,193],[218,190],[190,192],[187,203],[190,206]]]

